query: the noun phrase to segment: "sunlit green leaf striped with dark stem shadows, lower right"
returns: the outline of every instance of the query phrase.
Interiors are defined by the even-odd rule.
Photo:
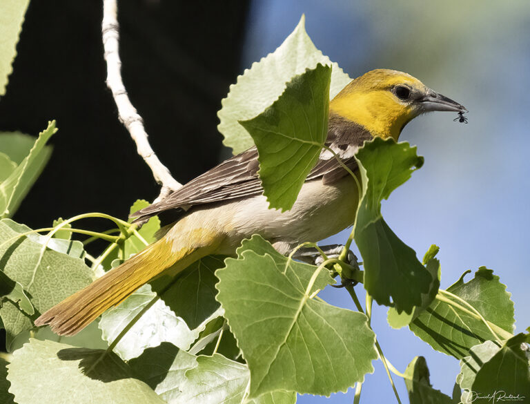
[[[464,282],[464,276],[469,272],[464,272],[460,279],[446,290],[474,307],[492,323],[491,327],[495,332],[513,332],[513,302],[506,291],[506,285],[500,283],[499,277],[485,267],[480,267],[473,279]],[[434,349],[457,359],[467,356],[467,352],[474,345],[495,339],[482,320],[450,302],[441,300],[444,298],[469,311],[469,307],[458,298],[452,298],[440,291],[431,305],[421,311],[411,323],[410,329],[416,336]]]

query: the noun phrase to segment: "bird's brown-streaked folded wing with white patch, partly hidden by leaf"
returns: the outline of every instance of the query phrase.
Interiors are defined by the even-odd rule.
[[[346,123],[348,126],[353,124],[353,122]],[[330,117],[326,146],[335,151],[351,171],[355,171],[357,162],[353,155],[362,146],[362,142],[370,139],[371,135],[360,126],[352,127],[355,130],[348,130],[343,126],[340,125],[340,122],[337,124],[337,119],[333,122],[332,117]],[[133,213],[132,216],[135,218],[135,222],[138,222],[170,209],[186,211],[191,206],[262,195],[263,188],[257,175],[258,170],[257,149],[255,147],[249,148],[243,153],[230,157],[210,171],[199,175],[171,193],[168,198],[147,206]],[[308,174],[306,181],[321,179],[324,184],[333,184],[344,175],[348,175],[348,173],[337,161],[335,155],[327,149],[323,149],[317,164]]]

